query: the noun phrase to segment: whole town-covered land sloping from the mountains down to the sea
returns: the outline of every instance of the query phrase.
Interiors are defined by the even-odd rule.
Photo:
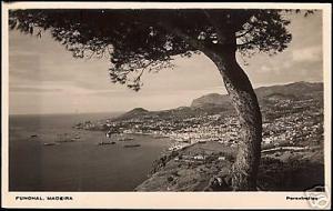
[[[296,82],[255,92],[263,117],[260,189],[302,191],[323,184],[323,83]],[[137,191],[229,190],[221,182],[229,181],[240,124],[228,96],[206,94],[191,107],[163,111],[137,108],[82,128],[174,140]]]

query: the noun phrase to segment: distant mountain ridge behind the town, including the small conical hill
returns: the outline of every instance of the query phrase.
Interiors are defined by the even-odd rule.
[[[260,105],[274,105],[281,100],[307,100],[323,101],[323,83],[295,82],[283,86],[261,87],[255,89]],[[192,101],[191,107],[179,107],[176,109],[162,111],[148,111],[135,108],[118,118],[115,121],[145,119],[145,120],[175,120],[182,121],[192,117],[206,117],[221,112],[232,112],[233,107],[226,94],[210,93]]]

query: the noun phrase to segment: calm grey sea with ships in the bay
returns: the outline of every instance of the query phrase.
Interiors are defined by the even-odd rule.
[[[112,115],[10,115],[9,191],[133,191],[148,179],[153,162],[172,140],[127,134],[131,141],[100,145],[110,140],[104,132],[73,128]],[[59,142],[65,139],[74,141]],[[140,147],[125,148],[129,143]]]

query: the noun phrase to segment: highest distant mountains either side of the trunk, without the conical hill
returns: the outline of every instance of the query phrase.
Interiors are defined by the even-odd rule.
[[[264,103],[268,100],[321,100],[323,96],[322,82],[294,82],[290,84],[261,87],[254,90],[259,103]],[[219,105],[222,108],[230,108],[230,100],[226,94],[210,93],[192,101],[192,108],[210,108]]]

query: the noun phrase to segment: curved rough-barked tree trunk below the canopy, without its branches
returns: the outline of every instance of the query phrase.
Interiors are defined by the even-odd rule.
[[[209,56],[216,64],[231,103],[239,115],[241,131],[239,152],[231,169],[234,191],[256,190],[256,175],[261,157],[262,115],[252,84],[239,66],[234,50]]]

